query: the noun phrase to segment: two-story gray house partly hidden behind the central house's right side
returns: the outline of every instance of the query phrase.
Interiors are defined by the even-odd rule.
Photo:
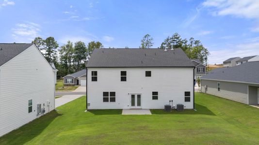
[[[198,77],[201,77],[206,74],[206,66],[199,59],[192,59],[191,61],[195,65],[194,79],[196,81]]]

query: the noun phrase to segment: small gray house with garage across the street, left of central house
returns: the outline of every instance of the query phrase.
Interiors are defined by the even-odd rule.
[[[65,86],[86,86],[86,70],[64,76],[63,83]]]

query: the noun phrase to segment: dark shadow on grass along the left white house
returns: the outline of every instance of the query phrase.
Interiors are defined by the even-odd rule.
[[[49,124],[58,116],[62,116],[53,110],[50,113],[41,116],[24,126],[9,132],[0,137],[0,145],[23,145],[34,137],[38,136]]]

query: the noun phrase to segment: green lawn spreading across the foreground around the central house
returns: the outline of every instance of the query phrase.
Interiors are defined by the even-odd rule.
[[[195,93],[196,109],[122,116],[121,110],[84,112],[85,96],[0,138],[0,145],[258,145],[259,109]]]

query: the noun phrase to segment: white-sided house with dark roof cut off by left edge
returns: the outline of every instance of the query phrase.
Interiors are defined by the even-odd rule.
[[[0,43],[0,136],[55,106],[55,70],[31,43]]]

